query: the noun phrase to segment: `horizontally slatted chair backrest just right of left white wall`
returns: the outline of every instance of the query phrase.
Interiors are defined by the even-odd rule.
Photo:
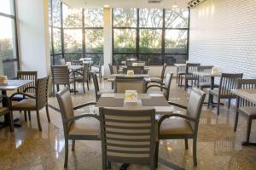
[[[51,74],[54,84],[67,84],[69,86],[69,71],[67,65],[52,65]]]

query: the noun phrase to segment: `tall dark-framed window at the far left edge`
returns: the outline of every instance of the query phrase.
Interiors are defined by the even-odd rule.
[[[0,1],[0,75],[15,78],[19,69],[15,1]]]

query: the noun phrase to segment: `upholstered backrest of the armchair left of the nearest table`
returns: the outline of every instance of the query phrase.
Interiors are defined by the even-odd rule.
[[[64,134],[67,134],[67,131],[72,124],[72,122],[65,122],[67,118],[73,117],[74,112],[73,112],[73,103],[72,103],[72,98],[69,92],[69,88],[65,87],[61,89],[56,94],[60,111],[61,111],[61,118],[62,118],[62,123],[63,123],[63,128],[64,128]]]

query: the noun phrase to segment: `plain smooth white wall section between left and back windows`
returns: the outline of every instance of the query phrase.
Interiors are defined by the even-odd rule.
[[[17,0],[20,69],[49,75],[48,0]]]

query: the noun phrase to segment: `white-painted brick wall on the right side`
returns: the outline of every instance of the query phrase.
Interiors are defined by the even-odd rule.
[[[189,60],[256,78],[256,1],[207,0],[191,9]]]

